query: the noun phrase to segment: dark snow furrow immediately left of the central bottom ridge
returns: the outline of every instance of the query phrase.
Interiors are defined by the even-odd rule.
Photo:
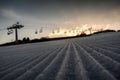
[[[68,50],[68,46],[70,44],[66,45],[66,48],[64,48],[59,55],[56,56],[56,58],[44,69],[44,71],[39,74],[35,80],[54,80],[55,76],[57,75],[60,65],[62,65],[62,62],[64,62],[64,58],[66,57],[66,50]],[[59,61],[59,62],[58,62]],[[46,77],[47,76],[47,77]]]

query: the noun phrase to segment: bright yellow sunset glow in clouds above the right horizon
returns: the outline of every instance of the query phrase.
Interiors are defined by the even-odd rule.
[[[99,26],[99,28],[97,27]],[[97,32],[100,30],[107,30],[107,29],[112,29],[110,27],[110,24],[104,25],[104,27],[102,27],[103,25],[88,25],[88,24],[84,24],[81,26],[74,26],[74,27],[69,27],[69,28],[58,28],[53,30],[53,32],[49,33],[49,37],[50,38],[54,38],[54,37],[68,37],[68,36],[77,36],[80,35],[82,32],[85,32],[86,34],[90,34],[89,28],[92,28],[91,32]]]

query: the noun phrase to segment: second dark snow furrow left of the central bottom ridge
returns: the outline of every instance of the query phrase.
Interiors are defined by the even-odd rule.
[[[61,51],[64,50],[65,48],[66,46],[60,49],[60,51],[51,53],[47,58],[42,60],[39,64],[35,65],[33,68],[31,68],[30,70],[28,70],[15,80],[34,80],[35,77],[39,75],[51,63],[51,61],[53,61],[56,58],[56,56],[60,55]]]

